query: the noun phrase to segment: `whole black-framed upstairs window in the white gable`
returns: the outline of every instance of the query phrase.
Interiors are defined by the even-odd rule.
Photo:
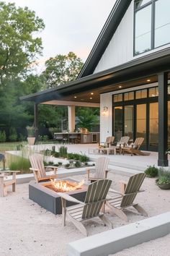
[[[135,1],[135,55],[170,43],[169,9],[169,0]]]

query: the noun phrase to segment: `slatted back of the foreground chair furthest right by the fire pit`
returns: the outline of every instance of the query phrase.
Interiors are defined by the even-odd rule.
[[[146,174],[140,173],[130,177],[128,184],[125,188],[125,193],[122,197],[121,207],[131,205],[143,184]]]

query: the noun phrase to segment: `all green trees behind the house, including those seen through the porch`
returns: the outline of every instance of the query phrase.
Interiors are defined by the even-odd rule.
[[[83,66],[83,61],[69,52],[51,57],[45,62],[45,71],[35,74],[32,63],[42,56],[42,38],[36,35],[44,28],[34,11],[0,1],[0,142],[23,140],[25,127],[33,125],[34,106],[19,97],[76,80]],[[67,116],[66,106],[38,107],[38,125],[45,129],[59,131],[61,119]],[[79,127],[91,130],[99,124],[99,108],[76,108],[76,116]]]

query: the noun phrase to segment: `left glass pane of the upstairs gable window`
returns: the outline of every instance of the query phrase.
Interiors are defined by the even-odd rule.
[[[151,50],[151,4],[135,14],[135,54],[149,50]]]

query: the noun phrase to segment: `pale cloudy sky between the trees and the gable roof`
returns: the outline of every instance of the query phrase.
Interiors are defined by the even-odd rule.
[[[6,0],[29,7],[45,22],[40,63],[73,51],[86,61],[115,0]]]

